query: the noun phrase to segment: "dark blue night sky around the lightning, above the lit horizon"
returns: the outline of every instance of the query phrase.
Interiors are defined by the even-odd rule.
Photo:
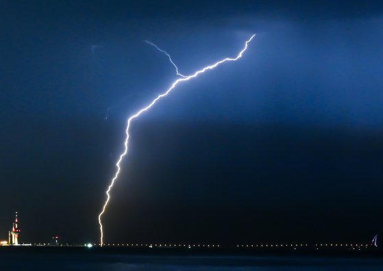
[[[353,242],[383,233],[383,1],[1,1],[0,239]]]

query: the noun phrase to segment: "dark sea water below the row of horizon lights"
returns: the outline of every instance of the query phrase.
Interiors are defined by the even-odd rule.
[[[0,270],[383,270],[380,253],[132,251],[3,247]]]

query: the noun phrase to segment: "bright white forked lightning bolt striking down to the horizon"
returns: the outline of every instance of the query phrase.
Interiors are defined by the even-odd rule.
[[[156,99],[154,99],[153,101],[151,101],[151,103],[149,103],[149,105],[143,107],[143,109],[140,109],[138,112],[136,112],[136,114],[134,114],[133,116],[130,116],[128,119],[127,119],[127,127],[126,127],[126,130],[125,130],[125,133],[126,133],[126,138],[125,138],[125,142],[124,142],[124,151],[123,153],[121,153],[120,155],[120,158],[119,160],[117,161],[116,163],[116,167],[117,167],[117,170],[116,170],[116,173],[114,175],[114,177],[112,178],[112,180],[110,181],[110,185],[108,186],[108,190],[106,190],[106,201],[105,203],[103,204],[103,207],[102,207],[102,211],[101,213],[99,214],[99,225],[100,225],[100,232],[101,232],[101,238],[100,238],[100,246],[103,246],[103,226],[102,226],[102,222],[101,222],[101,217],[103,216],[103,214],[105,213],[106,211],[106,207],[108,206],[108,203],[110,201],[110,190],[112,190],[113,188],[113,185],[114,185],[114,182],[116,181],[116,179],[119,177],[119,174],[120,174],[120,171],[121,171],[121,161],[123,160],[123,157],[125,157],[125,155],[127,154],[127,144],[129,142],[129,128],[130,128],[130,125],[132,124],[132,120],[134,120],[135,118],[138,118],[138,116],[140,116],[141,114],[147,112],[147,110],[149,110],[151,107],[153,107],[153,105],[155,105],[160,99],[162,99],[164,96],[167,96],[172,90],[175,89],[175,87],[179,84],[179,83],[182,83],[184,81],[189,81],[190,79],[193,79],[195,77],[197,77],[198,75],[200,75],[201,73],[205,73],[207,70],[212,70],[214,68],[216,68],[217,66],[219,66],[220,64],[223,64],[224,62],[230,62],[230,61],[236,61],[236,60],[239,60],[240,57],[242,57],[243,53],[245,53],[245,51],[247,50],[247,45],[249,44],[249,42],[251,42],[251,40],[255,37],[256,35],[254,34],[253,36],[251,36],[249,38],[249,40],[246,40],[245,42],[245,46],[243,47],[243,49],[238,53],[238,55],[234,58],[230,58],[230,57],[226,57],[224,58],[223,60],[219,60],[218,62],[210,65],[210,66],[206,66],[205,68],[202,68],[201,70],[197,70],[195,73],[193,73],[192,75],[188,75],[188,76],[184,76],[182,75],[182,78],[180,79],[177,79],[175,80],[170,88],[168,88],[165,92],[163,92],[162,94],[158,95]],[[148,42],[149,44],[152,44],[151,42]],[[156,47],[155,44],[152,44],[154,47]],[[157,47],[157,49],[159,49]],[[159,49],[160,51],[166,53],[166,51],[163,51],[161,49]],[[168,55],[169,57],[169,60],[171,61],[171,63],[173,63],[173,61],[171,60],[171,57],[168,53],[166,53],[166,55]],[[175,66],[175,64],[173,63],[173,65]],[[175,66],[175,68],[177,68],[177,66]],[[177,75],[180,75],[177,71]]]

